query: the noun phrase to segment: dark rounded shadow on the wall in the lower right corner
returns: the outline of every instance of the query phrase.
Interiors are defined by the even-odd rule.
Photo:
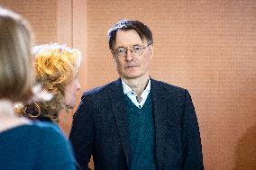
[[[238,141],[233,170],[256,169],[256,125],[252,126]]]

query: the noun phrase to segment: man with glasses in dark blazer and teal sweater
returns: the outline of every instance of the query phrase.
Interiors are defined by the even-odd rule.
[[[78,164],[88,169],[203,169],[197,116],[186,89],[150,76],[151,30],[117,22],[108,31],[120,76],[83,94],[69,139]]]

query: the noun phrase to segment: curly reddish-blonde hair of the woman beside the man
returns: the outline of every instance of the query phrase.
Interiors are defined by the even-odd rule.
[[[78,73],[81,54],[57,43],[44,44],[33,48],[36,83],[43,90],[54,94],[50,101],[33,102],[23,107],[23,114],[32,119],[59,121],[59,112],[65,106],[65,87]]]

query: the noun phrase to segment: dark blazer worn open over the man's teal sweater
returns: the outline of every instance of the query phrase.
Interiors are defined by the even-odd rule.
[[[158,170],[203,169],[197,116],[186,89],[151,79]],[[129,126],[121,79],[83,94],[69,139],[87,169],[125,170],[130,165]]]

